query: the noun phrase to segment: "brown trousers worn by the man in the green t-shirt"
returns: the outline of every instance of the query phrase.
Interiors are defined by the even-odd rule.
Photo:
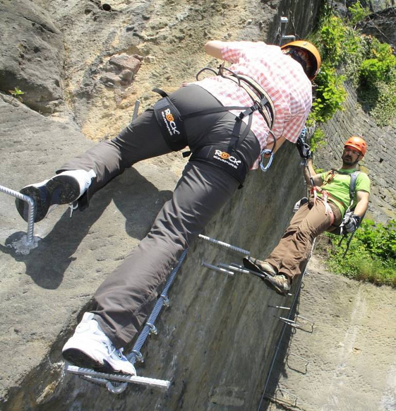
[[[341,222],[339,208],[333,202],[328,202],[334,214],[334,225]],[[331,226],[331,217],[326,214],[325,204],[317,199],[314,204],[313,196],[309,202],[301,206],[293,216],[289,227],[272,253],[265,259],[279,273],[291,279],[301,273],[310,256],[312,242],[315,237]]]

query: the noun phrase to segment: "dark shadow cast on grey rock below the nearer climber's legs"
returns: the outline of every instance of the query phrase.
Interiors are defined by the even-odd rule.
[[[40,287],[56,289],[83,238],[91,226],[103,214],[113,199],[125,217],[125,230],[137,239],[143,238],[163,203],[172,196],[171,191],[158,191],[155,185],[129,169],[105,186],[91,200],[84,212],[75,211],[69,218],[67,209],[51,232],[39,241],[37,248],[29,254],[19,254],[12,243],[21,238],[22,232],[10,235],[0,251],[11,255],[26,265],[26,274]]]

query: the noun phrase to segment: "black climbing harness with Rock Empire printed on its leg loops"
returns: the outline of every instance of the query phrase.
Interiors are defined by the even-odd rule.
[[[197,80],[199,80],[199,75],[205,70],[212,71],[216,76],[221,76],[225,79],[229,79],[237,83],[247,92],[249,97],[253,100],[253,105],[251,105],[250,107],[213,107],[181,115],[175,105],[171,102],[165,91],[158,88],[153,88],[153,91],[157,92],[163,97],[154,104],[155,117],[169,148],[172,151],[179,151],[187,145],[187,135],[184,127],[184,120],[197,116],[205,116],[207,114],[222,113],[224,111],[243,110],[235,118],[235,125],[233,127],[231,139],[228,145],[215,144],[198,147],[196,150],[194,150],[194,153],[192,153],[189,160],[207,162],[216,167],[222,168],[227,173],[231,174],[232,177],[236,178],[236,180],[240,183],[239,188],[241,188],[248,171],[248,165],[238,154],[237,148],[250,131],[251,123],[253,121],[253,116],[251,115],[255,111],[258,111],[264,118],[266,124],[268,125],[269,133],[274,139],[274,144],[271,150],[264,149],[260,153],[260,168],[263,171],[268,170],[269,166],[271,166],[272,163],[276,144],[275,136],[271,131],[272,126],[275,122],[275,107],[265,90],[255,80],[247,76],[243,76],[242,74],[237,74],[222,65],[218,67],[218,72],[209,67],[203,68],[196,74]],[[224,70],[227,71],[227,74],[224,74]],[[242,119],[244,119],[245,117],[248,117],[247,125],[243,132],[241,132]],[[183,153],[183,156],[187,157],[190,154],[191,152]],[[266,166],[264,166],[264,158],[268,155],[270,156],[268,163]]]

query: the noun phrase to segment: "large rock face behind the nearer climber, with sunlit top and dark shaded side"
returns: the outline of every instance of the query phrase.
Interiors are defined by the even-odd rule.
[[[143,108],[157,99],[149,91],[152,87],[171,91],[193,80],[200,68],[215,66],[218,62],[203,52],[207,40],[279,43],[279,18],[284,15],[291,21],[287,31],[293,27],[303,38],[316,22],[320,2],[114,0],[110,9],[93,0],[0,0],[0,5],[2,11],[21,15],[21,27],[33,15],[34,22],[37,16],[45,17],[43,27],[53,26],[50,41],[58,39],[60,50],[46,60],[48,84],[43,80],[40,85],[39,76],[32,80],[37,81],[34,92],[46,90],[51,70],[59,73],[62,92],[59,97],[53,92],[54,99],[48,99],[65,102],[56,106],[57,113],[45,118],[1,95],[1,183],[18,190],[51,176],[67,158],[92,146],[92,140],[113,137],[130,122],[136,98]],[[2,26],[9,29],[12,18],[17,17],[5,19]],[[7,56],[4,64],[10,66],[19,59],[19,54]],[[17,66],[12,71],[16,86],[26,91]],[[1,89],[12,86],[7,83]],[[28,105],[28,96],[24,98]],[[66,207],[57,208],[35,225],[35,235],[42,239],[29,255],[11,247],[20,234],[15,231],[25,231],[26,223],[16,214],[12,197],[2,194],[2,410],[258,408],[283,326],[278,318],[283,312],[274,307],[290,306],[293,297],[278,296],[255,277],[226,277],[202,267],[202,260],[241,261],[241,255],[202,240],[191,247],[177,274],[170,290],[172,305],[156,324],[159,335],[143,347],[146,361],[137,366],[139,375],[169,379],[167,393],[131,386],[114,396],[104,387],[63,373],[61,348],[89,309],[91,295],[146,235],[185,161],[173,153],[137,164],[72,219]],[[268,254],[289,222],[295,201],[304,194],[299,163],[295,147],[285,143],[269,172],[249,173],[244,188],[205,234],[254,256]],[[296,282],[293,292],[297,286]]]

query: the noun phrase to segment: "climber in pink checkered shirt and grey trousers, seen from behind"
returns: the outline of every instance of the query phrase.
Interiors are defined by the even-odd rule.
[[[137,161],[187,145],[192,152],[172,199],[159,211],[148,235],[99,286],[92,310],[84,313],[63,347],[63,357],[73,364],[135,374],[120,347],[144,325],[182,252],[246,173],[258,168],[264,148],[275,151],[285,139],[295,143],[307,119],[311,81],[320,68],[315,46],[305,41],[280,48],[214,40],[205,50],[231,66],[168,97],[159,90],[164,98],[116,138],[68,161],[49,180],[21,190],[33,198],[35,221],[40,221],[54,204],[86,207],[96,191]],[[25,202],[16,200],[16,207],[27,220]]]

